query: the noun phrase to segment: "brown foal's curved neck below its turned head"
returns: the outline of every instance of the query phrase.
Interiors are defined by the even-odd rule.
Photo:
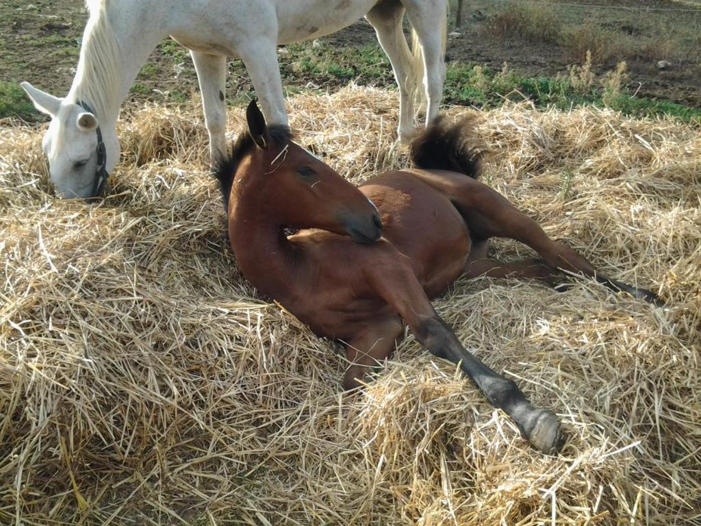
[[[248,177],[250,177],[249,174]],[[264,295],[284,302],[297,295],[296,276],[304,254],[287,240],[285,224],[271,210],[264,192],[233,181],[229,203],[229,239],[238,267]]]

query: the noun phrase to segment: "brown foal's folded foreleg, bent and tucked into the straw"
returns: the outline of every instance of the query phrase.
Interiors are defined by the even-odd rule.
[[[368,369],[390,356],[395,339],[402,334],[404,324],[397,316],[368,323],[346,342],[346,356],[351,365],[343,376],[343,389],[360,386]]]

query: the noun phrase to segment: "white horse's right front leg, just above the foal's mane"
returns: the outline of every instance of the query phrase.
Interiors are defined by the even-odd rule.
[[[245,49],[238,49],[238,55],[251,77],[253,87],[261,101],[266,123],[289,123],[285,109],[283,82],[278,66],[277,43],[270,39],[249,41]]]

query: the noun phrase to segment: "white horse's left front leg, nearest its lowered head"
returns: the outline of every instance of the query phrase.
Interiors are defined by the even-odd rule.
[[[210,134],[210,162],[216,166],[226,156],[226,57],[191,51],[200,83],[205,126]]]

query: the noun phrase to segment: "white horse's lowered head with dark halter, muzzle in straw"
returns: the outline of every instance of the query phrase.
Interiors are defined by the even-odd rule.
[[[22,88],[36,109],[51,116],[43,151],[57,194],[65,198],[100,195],[107,174],[119,159],[116,128],[101,128],[98,116],[85,102],[54,97],[28,82]]]

